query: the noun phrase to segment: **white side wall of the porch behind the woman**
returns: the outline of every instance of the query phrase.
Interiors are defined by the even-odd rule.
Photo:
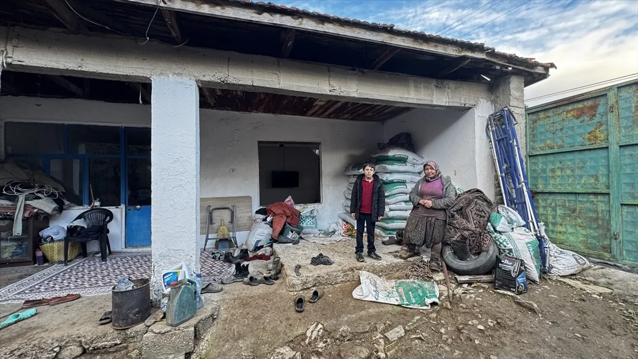
[[[399,132],[410,132],[415,151],[434,160],[443,175],[463,188],[480,188],[493,198],[493,164],[485,121],[491,103],[467,111],[415,109],[383,124],[385,141]],[[489,176],[487,175],[489,172]]]

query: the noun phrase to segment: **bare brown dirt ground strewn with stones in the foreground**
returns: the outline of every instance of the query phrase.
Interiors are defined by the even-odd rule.
[[[380,358],[415,359],[638,358],[634,298],[593,296],[557,280],[542,279],[519,296],[536,303],[540,314],[494,292],[491,284],[464,288],[451,310],[355,300],[357,284],[341,284],[324,288],[324,298],[307,303],[303,313],[295,312],[295,293],[286,292],[281,281],[272,287],[231,286],[219,296],[219,317],[198,358],[299,358],[297,352],[304,359],[354,359],[367,358],[367,351],[370,358],[379,351],[385,353]],[[315,322],[323,333],[306,344]],[[406,335],[396,342],[382,337],[399,325]],[[291,349],[288,354],[273,355],[283,346]],[[349,356],[346,347],[352,346],[366,349]]]

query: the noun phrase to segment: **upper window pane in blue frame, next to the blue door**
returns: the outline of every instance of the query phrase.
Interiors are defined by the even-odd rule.
[[[119,130],[116,126],[69,125],[69,153],[117,155]]]

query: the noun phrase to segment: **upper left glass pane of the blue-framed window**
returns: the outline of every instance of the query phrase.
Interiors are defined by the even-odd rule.
[[[11,153],[64,153],[64,125],[56,123],[7,122],[4,149]]]

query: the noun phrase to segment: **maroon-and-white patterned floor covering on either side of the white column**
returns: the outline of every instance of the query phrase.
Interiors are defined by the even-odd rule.
[[[203,282],[214,282],[232,274],[232,264],[215,261],[210,252],[202,252],[200,269]],[[0,289],[1,303],[64,296],[108,294],[122,276],[133,279],[151,277],[151,252],[116,253],[106,262],[100,256],[78,257],[68,266],[54,264],[39,273]]]

